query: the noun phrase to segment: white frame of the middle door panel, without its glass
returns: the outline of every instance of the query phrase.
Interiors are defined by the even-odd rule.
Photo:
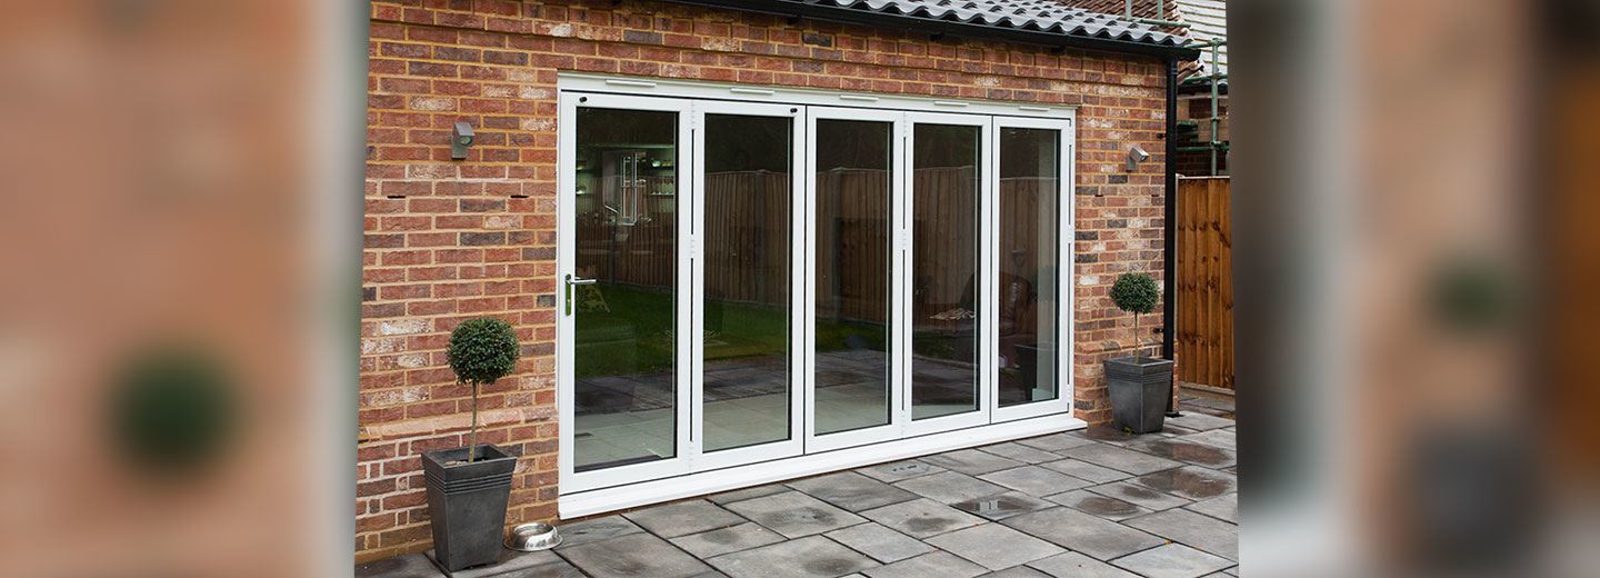
[[[888,335],[890,335],[890,407],[888,418],[890,423],[882,426],[870,426],[861,429],[851,429],[834,434],[818,434],[816,431],[816,315],[813,315],[818,298],[816,287],[816,147],[827,146],[821,142],[816,134],[818,120],[861,120],[861,122],[886,122],[891,125],[890,139],[893,141],[890,149],[890,303],[888,303]],[[805,149],[805,205],[806,223],[805,223],[805,271],[806,271],[806,368],[805,368],[805,391],[806,391],[806,407],[805,407],[805,431],[806,431],[806,452],[827,452],[838,450],[862,444],[886,442],[899,439],[904,436],[904,416],[898,408],[904,407],[906,387],[901,387],[901,375],[904,371],[904,357],[901,347],[906,341],[901,338],[904,307],[902,295],[904,283],[901,282],[899,272],[906,271],[906,231],[904,218],[901,216],[906,207],[906,114],[901,110],[874,110],[874,109],[842,109],[842,107],[806,107],[806,139],[811,146]]]

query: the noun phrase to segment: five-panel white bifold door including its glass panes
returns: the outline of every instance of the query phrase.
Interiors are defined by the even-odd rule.
[[[1070,122],[560,115],[562,493],[1070,410]]]

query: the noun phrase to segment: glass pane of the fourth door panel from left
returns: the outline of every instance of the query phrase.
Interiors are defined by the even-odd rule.
[[[981,126],[912,138],[912,418],[978,410]]]

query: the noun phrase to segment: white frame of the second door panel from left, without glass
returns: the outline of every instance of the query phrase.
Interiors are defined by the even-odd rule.
[[[718,452],[704,452],[706,440],[706,384],[704,384],[704,351],[706,351],[706,317],[699,314],[693,315],[694,335],[693,341],[693,402],[690,403],[691,411],[696,415],[690,421],[691,432],[691,453],[690,461],[693,463],[693,471],[707,471],[728,466],[739,466],[755,461],[776,460],[797,456],[805,452],[805,387],[802,375],[805,373],[803,365],[803,336],[805,336],[805,271],[797,267],[797,264],[805,263],[806,250],[805,237],[802,237],[802,227],[805,224],[805,210],[802,197],[805,195],[805,173],[800,163],[795,162],[795,154],[805,151],[805,114],[802,107],[789,104],[763,104],[763,102],[726,102],[726,101],[696,101],[693,110],[693,126],[694,126],[694,162],[691,171],[694,173],[694,194],[690,195],[688,205],[693,205],[691,213],[694,215],[693,242],[694,255],[698,263],[704,263],[706,243],[706,115],[707,114],[730,114],[730,115],[747,115],[747,117],[774,117],[787,118],[790,122],[790,152],[789,152],[789,439],[771,444],[726,448]],[[682,202],[680,202],[682,205]],[[706,267],[698,266],[693,274],[694,288],[691,298],[704,299],[706,295]]]

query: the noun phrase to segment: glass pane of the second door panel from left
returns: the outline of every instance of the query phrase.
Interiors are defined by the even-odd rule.
[[[792,118],[706,115],[704,448],[789,439]]]

